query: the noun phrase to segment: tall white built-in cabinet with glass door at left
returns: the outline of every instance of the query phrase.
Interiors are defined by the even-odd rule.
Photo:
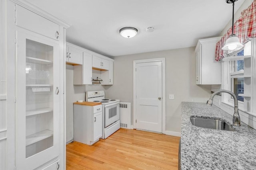
[[[16,16],[16,170],[65,169],[65,28],[19,5]]]

